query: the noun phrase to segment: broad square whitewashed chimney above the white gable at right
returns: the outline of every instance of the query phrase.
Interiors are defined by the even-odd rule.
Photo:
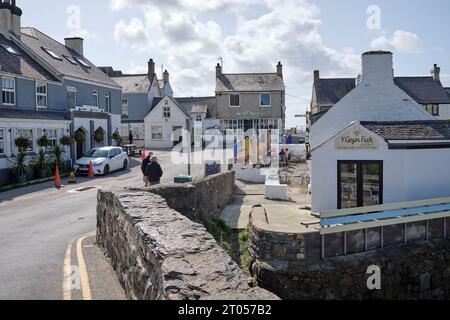
[[[392,52],[369,51],[362,55],[362,80],[366,86],[394,81]]]

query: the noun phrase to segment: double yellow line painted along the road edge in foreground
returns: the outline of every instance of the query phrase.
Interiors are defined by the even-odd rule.
[[[76,252],[78,260],[78,268],[80,273],[81,293],[83,300],[92,300],[91,287],[89,285],[89,273],[87,271],[86,262],[83,256],[83,241],[95,235],[95,232],[88,233],[77,240]],[[72,247],[74,240],[70,241],[64,258],[64,280],[63,280],[63,299],[72,299]]]

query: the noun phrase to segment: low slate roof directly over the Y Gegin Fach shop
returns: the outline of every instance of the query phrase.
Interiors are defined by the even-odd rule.
[[[450,120],[361,122],[386,140],[450,140]]]

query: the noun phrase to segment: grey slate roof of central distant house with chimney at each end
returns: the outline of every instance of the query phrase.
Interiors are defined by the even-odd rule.
[[[222,74],[216,78],[216,92],[284,91],[284,81],[276,73]]]

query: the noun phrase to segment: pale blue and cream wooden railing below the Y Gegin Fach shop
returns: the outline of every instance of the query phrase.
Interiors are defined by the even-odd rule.
[[[407,224],[426,221],[426,239],[429,237],[429,221],[444,219],[444,238],[447,238],[447,218],[450,217],[450,198],[438,198],[401,202],[371,207],[343,209],[320,214],[322,258],[325,257],[325,235],[344,234],[344,254],[347,254],[347,232],[364,230],[365,251],[367,251],[367,230],[381,228],[381,245],[384,246],[384,227],[404,225],[404,242],[407,238]]]

